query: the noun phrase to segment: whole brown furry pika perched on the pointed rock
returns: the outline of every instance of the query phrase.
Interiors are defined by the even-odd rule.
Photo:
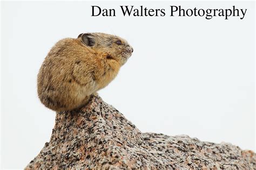
[[[39,69],[40,101],[58,112],[82,107],[117,76],[132,52],[126,40],[105,33],[59,40]]]

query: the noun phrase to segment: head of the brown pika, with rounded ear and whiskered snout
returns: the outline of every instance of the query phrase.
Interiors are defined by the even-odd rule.
[[[107,54],[107,58],[118,61],[121,65],[133,52],[131,45],[123,38],[105,33],[82,33],[78,36],[83,44]]]

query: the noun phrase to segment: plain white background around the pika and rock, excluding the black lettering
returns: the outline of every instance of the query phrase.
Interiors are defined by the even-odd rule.
[[[91,5],[116,17],[90,17]],[[119,5],[166,9],[165,17],[123,17]],[[169,5],[247,9],[231,17],[169,17]],[[3,2],[1,157],[24,168],[50,140],[55,112],[37,97],[37,73],[59,39],[83,32],[125,38],[134,52],[99,91],[142,132],[188,134],[255,151],[254,3]]]

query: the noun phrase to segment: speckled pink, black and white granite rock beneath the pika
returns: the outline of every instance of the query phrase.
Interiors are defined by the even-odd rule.
[[[25,169],[255,169],[256,155],[231,144],[142,133],[99,96],[57,113],[49,143]]]

